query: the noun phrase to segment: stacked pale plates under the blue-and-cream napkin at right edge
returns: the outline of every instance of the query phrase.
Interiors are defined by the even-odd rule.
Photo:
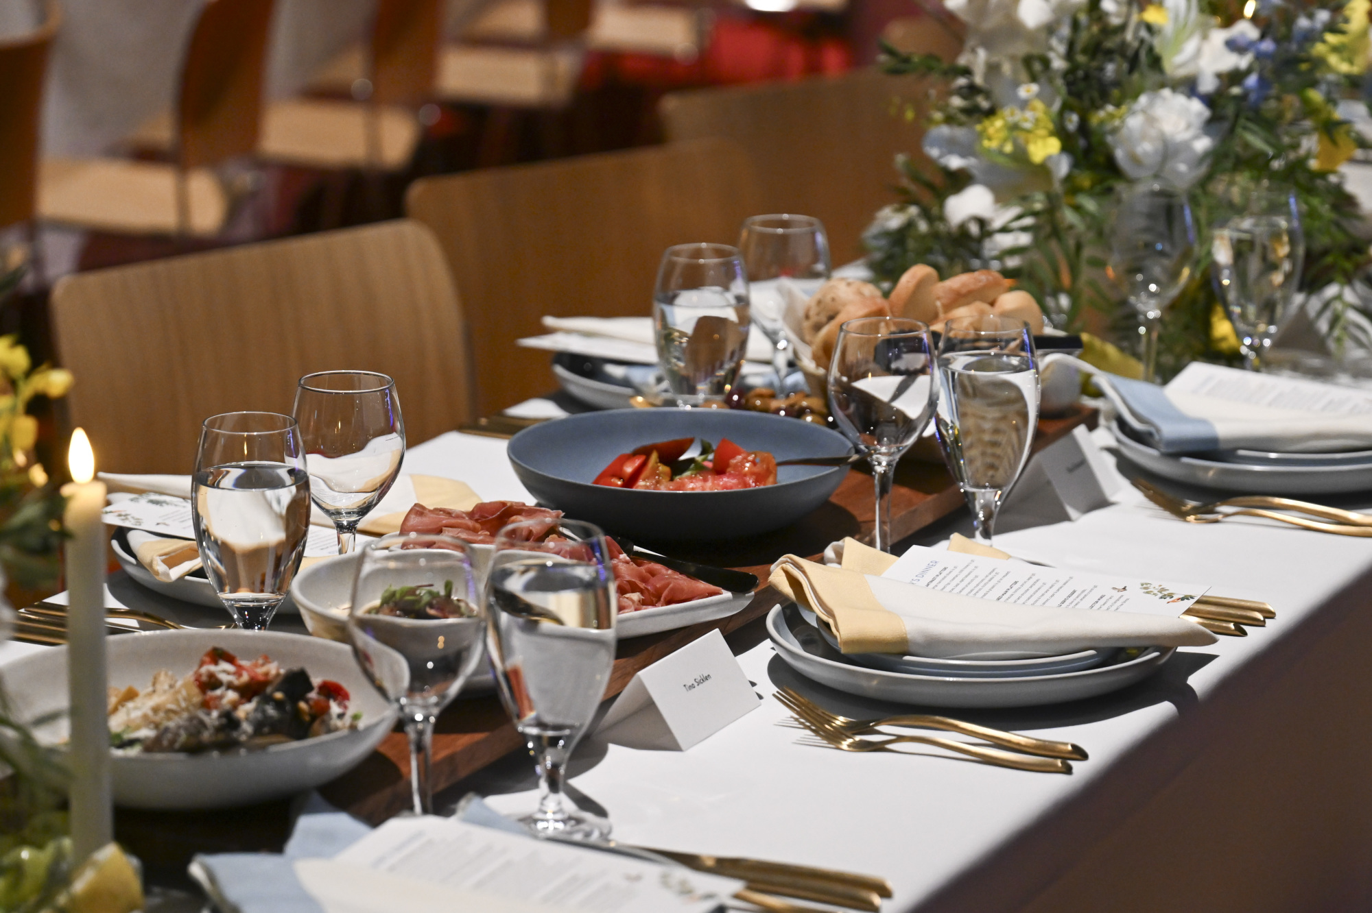
[[[1163,478],[1250,495],[1345,495],[1372,491],[1372,462],[1354,465],[1257,465],[1172,456],[1129,437],[1118,425],[1110,432],[1126,459]]]

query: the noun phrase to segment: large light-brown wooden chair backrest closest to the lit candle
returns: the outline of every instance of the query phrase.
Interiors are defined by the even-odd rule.
[[[188,473],[204,418],[289,413],[318,370],[394,377],[412,444],[472,415],[457,291],[409,219],[77,273],[51,310],[110,472]]]

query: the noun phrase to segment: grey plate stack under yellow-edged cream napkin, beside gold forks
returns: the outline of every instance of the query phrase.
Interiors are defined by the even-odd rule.
[[[855,665],[829,646],[793,605],[777,606],[767,614],[767,635],[777,655],[807,679],[863,698],[932,707],[1028,707],[1093,698],[1147,679],[1176,653],[1174,647],[1148,647],[1133,658],[1117,654],[1115,662],[1078,672],[970,679]]]

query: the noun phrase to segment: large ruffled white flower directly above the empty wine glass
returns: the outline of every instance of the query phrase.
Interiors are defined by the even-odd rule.
[[[1214,140],[1205,132],[1210,108],[1200,99],[1161,89],[1144,92],[1111,137],[1115,162],[1129,178],[1157,178],[1187,189],[1205,173]]]

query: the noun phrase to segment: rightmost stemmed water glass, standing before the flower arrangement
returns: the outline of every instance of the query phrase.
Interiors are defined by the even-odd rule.
[[[1242,215],[1214,230],[1214,281],[1233,322],[1243,366],[1259,370],[1299,282],[1303,243],[1284,215]]]

